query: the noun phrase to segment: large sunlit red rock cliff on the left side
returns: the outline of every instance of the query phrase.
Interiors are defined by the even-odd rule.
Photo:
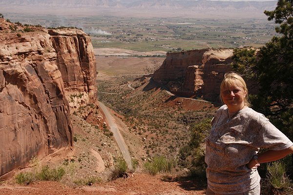
[[[73,146],[66,96],[96,101],[95,57],[83,31],[23,29],[0,18],[0,176]]]

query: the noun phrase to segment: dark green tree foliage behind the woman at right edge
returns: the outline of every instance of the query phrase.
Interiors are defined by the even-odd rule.
[[[252,107],[293,139],[293,0],[278,0],[275,10],[264,13],[279,24],[280,36],[272,37],[254,59],[252,50],[234,50],[232,68],[259,84]]]

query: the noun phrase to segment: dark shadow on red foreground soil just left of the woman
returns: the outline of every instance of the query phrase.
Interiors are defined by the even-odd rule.
[[[206,178],[204,181],[194,176],[178,176],[178,177],[165,177],[164,181],[176,182],[179,186],[186,191],[205,191],[207,189]]]

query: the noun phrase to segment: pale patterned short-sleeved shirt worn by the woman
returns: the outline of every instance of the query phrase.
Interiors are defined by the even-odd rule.
[[[228,107],[223,105],[211,120],[206,141],[208,185],[218,194],[243,193],[260,182],[257,169],[246,166],[259,148],[283,150],[293,143],[263,114],[249,107],[227,120]]]

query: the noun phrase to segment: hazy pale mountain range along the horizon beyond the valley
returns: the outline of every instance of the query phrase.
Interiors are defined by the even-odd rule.
[[[57,15],[256,18],[277,1],[210,0],[1,0],[0,12]]]

